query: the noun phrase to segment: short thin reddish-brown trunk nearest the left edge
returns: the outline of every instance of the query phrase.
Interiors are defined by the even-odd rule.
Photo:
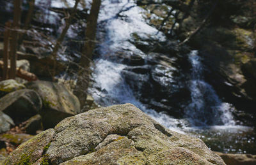
[[[9,38],[10,38],[10,28],[12,23],[6,22],[4,31],[4,54],[3,54],[3,80],[9,78],[8,69],[8,59],[9,59]]]

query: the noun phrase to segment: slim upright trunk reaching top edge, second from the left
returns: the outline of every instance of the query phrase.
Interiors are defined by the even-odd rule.
[[[13,26],[12,26],[12,40],[11,40],[11,50],[10,50],[10,78],[14,79],[16,75],[16,51],[17,51],[17,41],[18,41],[18,29],[20,25],[20,15],[21,15],[21,0],[14,0],[14,12],[13,12]]]

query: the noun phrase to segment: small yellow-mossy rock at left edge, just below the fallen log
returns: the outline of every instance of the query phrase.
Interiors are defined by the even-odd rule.
[[[13,79],[3,80],[0,82],[0,97],[19,89],[26,89],[26,87]]]

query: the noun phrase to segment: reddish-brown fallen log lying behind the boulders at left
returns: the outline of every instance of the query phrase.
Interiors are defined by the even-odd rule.
[[[3,67],[4,67],[3,61],[0,61],[0,67],[1,67],[1,69],[3,69]],[[10,68],[10,65],[8,65],[8,68]],[[20,78],[23,78],[24,80],[29,81],[29,82],[32,82],[32,81],[35,81],[38,79],[35,74],[25,71],[24,69],[21,69],[21,68],[16,68],[16,75]]]

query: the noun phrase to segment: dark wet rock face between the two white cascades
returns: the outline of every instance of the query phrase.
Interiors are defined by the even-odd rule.
[[[186,55],[179,56],[174,41],[161,41],[143,33],[133,33],[131,37],[130,42],[136,51],[132,50],[129,55],[129,51],[122,50],[122,56],[117,56],[122,57],[121,62],[127,65],[122,71],[125,82],[136,98],[148,104],[149,108],[182,117],[182,109],[190,96],[186,83],[189,64],[184,65]]]

